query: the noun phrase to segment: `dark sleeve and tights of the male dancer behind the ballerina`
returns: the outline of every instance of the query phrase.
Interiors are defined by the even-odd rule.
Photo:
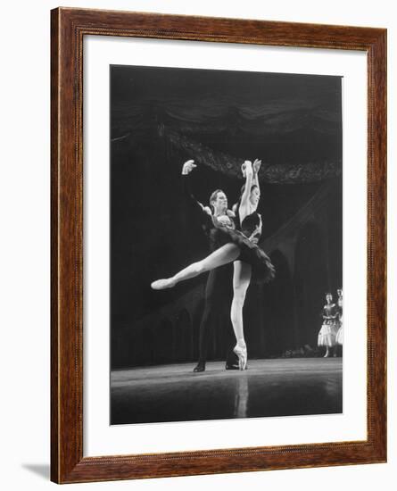
[[[196,220],[201,224],[205,236],[208,238],[211,252],[220,247],[219,234],[216,233],[215,226],[209,213],[203,210],[203,206],[195,199],[191,187],[189,175],[182,175],[185,193],[188,201],[194,210]],[[211,329],[216,329],[220,323],[222,314],[227,312],[230,316],[230,308],[233,297],[233,263],[225,264],[208,274],[204,294],[204,311],[199,331],[199,360],[194,371],[204,371],[207,360],[207,348]],[[232,325],[230,322],[230,329]],[[238,370],[238,359],[233,350],[227,353],[227,370]]]

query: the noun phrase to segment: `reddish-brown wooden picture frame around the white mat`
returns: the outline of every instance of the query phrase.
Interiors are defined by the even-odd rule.
[[[386,461],[386,30],[58,8],[51,12],[51,479],[73,483]],[[363,441],[83,457],[83,38],[366,52],[368,379]]]

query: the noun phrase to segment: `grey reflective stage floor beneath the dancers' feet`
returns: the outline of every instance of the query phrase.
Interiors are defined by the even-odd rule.
[[[112,424],[225,420],[342,412],[342,358],[207,362],[114,370]]]

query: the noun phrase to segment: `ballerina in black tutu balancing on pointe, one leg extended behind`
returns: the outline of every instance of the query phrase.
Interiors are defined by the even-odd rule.
[[[257,177],[257,171],[259,171],[260,166],[261,161],[255,161],[254,172],[252,162],[245,161],[242,165],[245,185],[236,207],[241,224],[239,229],[235,229],[234,225],[228,221],[219,220],[216,216],[211,215],[214,234],[219,244],[223,243],[223,245],[219,246],[217,250],[203,260],[190,264],[170,278],[153,281],[151,285],[155,290],[175,287],[180,281],[194,278],[229,262],[235,262],[230,317],[236,336],[234,352],[238,357],[240,370],[245,370],[247,364],[247,350],[243,329],[243,306],[245,294],[250,285],[252,270],[256,277],[264,282],[272,279],[275,274],[269,256],[258,246],[262,228],[261,215],[256,212],[261,196]]]

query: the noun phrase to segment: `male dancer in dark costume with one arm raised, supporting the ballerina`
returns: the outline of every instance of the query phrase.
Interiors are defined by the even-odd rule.
[[[208,238],[209,245],[214,249],[217,245],[211,240],[212,233],[215,229],[211,220],[211,214],[216,216],[218,221],[233,226],[234,213],[227,210],[227,196],[221,189],[217,189],[211,194],[210,204],[212,209],[208,206],[203,206],[203,204],[194,198],[187,176],[195,167],[196,165],[193,160],[184,163],[182,168],[184,188],[186,196],[188,196],[189,201],[193,205],[196,218],[201,223],[203,232]],[[233,296],[232,285],[233,263],[220,266],[209,272],[205,286],[204,311],[199,331],[199,360],[194,368],[194,372],[205,370],[210,331],[216,328],[216,324],[219,322],[222,313],[227,312],[227,315],[229,315]],[[230,329],[232,329],[231,323]],[[238,358],[233,352],[233,349],[230,349],[227,354],[226,370],[238,369]]]

